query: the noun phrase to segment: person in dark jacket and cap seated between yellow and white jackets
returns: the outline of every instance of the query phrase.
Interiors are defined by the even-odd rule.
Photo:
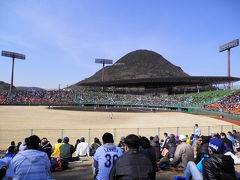
[[[60,146],[60,157],[65,161],[73,161],[72,154],[74,153],[73,145],[69,144],[69,138],[63,138],[63,145]]]

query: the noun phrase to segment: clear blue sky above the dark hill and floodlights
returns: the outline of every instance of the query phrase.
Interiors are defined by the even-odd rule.
[[[240,38],[239,0],[1,0],[0,50],[26,54],[14,85],[58,88],[137,50],[153,50],[193,76],[226,76],[224,43]],[[0,57],[0,81],[11,59]],[[240,47],[231,50],[240,77]]]

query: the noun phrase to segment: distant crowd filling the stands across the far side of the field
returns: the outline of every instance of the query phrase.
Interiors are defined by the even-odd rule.
[[[183,106],[199,107],[206,110],[240,114],[240,92],[218,90],[186,95],[133,95],[115,94],[101,91],[16,90],[9,94],[0,92],[0,104],[5,105],[129,105],[129,106]]]

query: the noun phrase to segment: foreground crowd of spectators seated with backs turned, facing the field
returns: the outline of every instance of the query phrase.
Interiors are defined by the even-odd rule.
[[[191,136],[165,132],[163,138],[129,134],[115,145],[113,135],[104,133],[101,140],[88,144],[84,137],[74,145],[64,137],[51,145],[47,138],[36,135],[15,145],[12,141],[0,159],[0,179],[51,179],[50,171],[62,171],[70,162],[83,157],[93,159],[94,179],[155,179],[156,172],[178,169],[175,179],[236,180],[240,164],[240,133],[236,130],[212,136],[201,134],[198,124]]]

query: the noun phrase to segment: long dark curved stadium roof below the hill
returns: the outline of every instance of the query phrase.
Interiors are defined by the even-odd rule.
[[[187,76],[187,77],[162,77],[162,78],[144,78],[144,79],[125,79],[103,82],[78,83],[78,86],[95,87],[174,87],[186,85],[209,85],[224,84],[240,81],[237,77],[226,76]]]

